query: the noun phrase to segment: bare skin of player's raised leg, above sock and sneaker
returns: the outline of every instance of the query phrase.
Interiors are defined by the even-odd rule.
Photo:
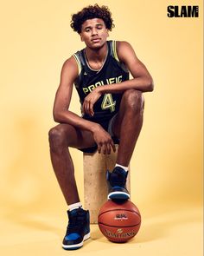
[[[127,167],[143,125],[143,94],[135,89],[124,92],[112,132],[120,139],[117,163]]]

